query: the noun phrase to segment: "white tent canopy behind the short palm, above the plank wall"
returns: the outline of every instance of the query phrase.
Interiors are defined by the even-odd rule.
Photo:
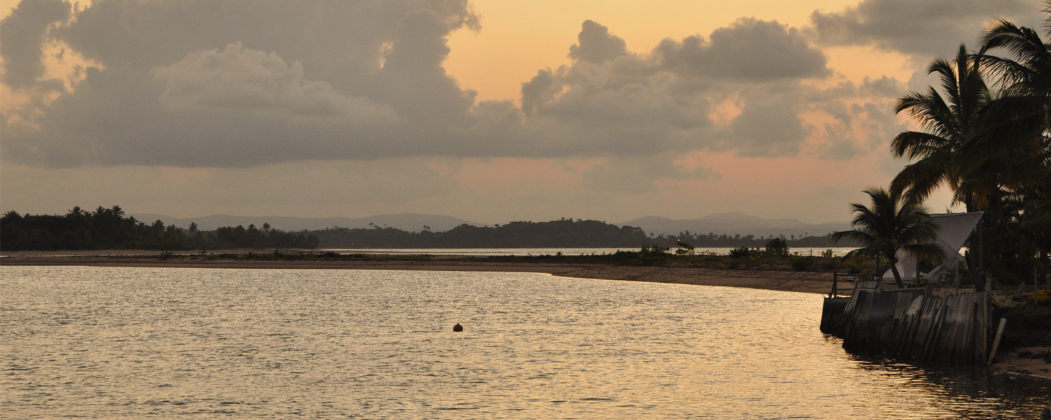
[[[982,220],[983,212],[973,213],[948,213],[931,214],[930,218],[941,227],[937,231],[935,243],[942,248],[946,255],[946,260],[941,266],[931,270],[930,273],[920,273],[916,269],[915,257],[898,251],[898,273],[902,275],[902,280],[914,281],[918,276],[926,278],[939,278],[942,274],[947,274],[956,269],[956,265],[964,260],[960,255],[960,249],[964,247],[967,237],[974,231],[974,227]],[[883,273],[884,280],[894,280],[894,273],[887,270]]]

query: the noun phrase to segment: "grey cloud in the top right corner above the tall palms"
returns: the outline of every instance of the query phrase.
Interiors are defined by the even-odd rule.
[[[977,49],[986,22],[995,17],[1038,24],[1038,0],[863,0],[841,12],[810,15],[823,45],[872,45],[929,57],[951,55],[962,42]]]

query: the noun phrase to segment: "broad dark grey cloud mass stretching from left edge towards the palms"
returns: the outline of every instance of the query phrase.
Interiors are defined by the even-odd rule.
[[[436,155],[626,162],[699,149],[790,155],[812,131],[803,112],[860,94],[808,87],[830,74],[822,51],[796,28],[755,19],[707,39],[665,40],[648,54],[627,51],[586,21],[573,63],[523,83],[519,108],[476,102],[442,67],[449,34],[479,27],[466,0],[99,0],[66,20],[69,7],[23,2],[0,24],[5,46],[8,33],[36,34],[5,50],[5,84],[47,88],[45,42],[98,63],[53,102],[4,116],[5,161],[246,167]],[[731,100],[741,113],[714,122],[714,107]]]

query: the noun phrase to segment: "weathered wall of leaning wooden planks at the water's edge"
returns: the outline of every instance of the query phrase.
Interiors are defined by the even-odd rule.
[[[994,331],[987,292],[936,296],[931,289],[878,290],[859,284],[850,297],[825,298],[821,331],[851,352],[922,361],[984,364]]]

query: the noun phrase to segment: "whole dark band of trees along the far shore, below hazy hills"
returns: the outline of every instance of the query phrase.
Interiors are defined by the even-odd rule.
[[[830,236],[781,238],[794,247],[830,247]],[[461,225],[445,232],[424,227],[418,232],[373,226],[368,229],[332,228],[311,232],[284,232],[249,225],[201,231],[150,225],[125,217],[120,206],[94,212],[74,208],[64,215],[21,215],[8,211],[0,217],[0,249],[24,250],[214,250],[230,248],[758,248],[770,237],[681,232],[650,235],[640,228],[619,227],[598,220],[562,218],[551,222],[512,222],[493,227]]]

